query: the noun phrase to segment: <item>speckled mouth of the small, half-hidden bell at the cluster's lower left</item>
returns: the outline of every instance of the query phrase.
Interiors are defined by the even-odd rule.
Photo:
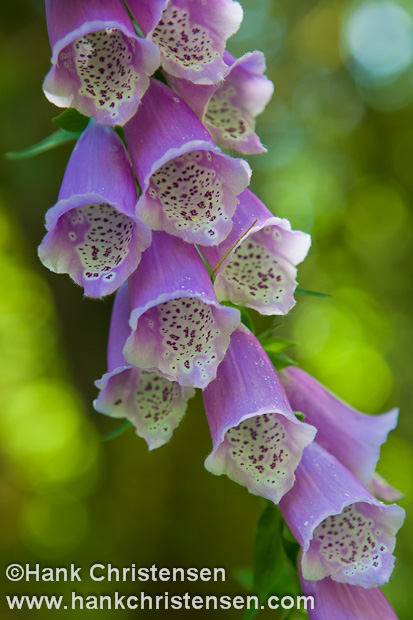
[[[192,388],[154,372],[129,368],[109,378],[95,407],[106,415],[127,418],[152,450],[170,440],[193,394]]]

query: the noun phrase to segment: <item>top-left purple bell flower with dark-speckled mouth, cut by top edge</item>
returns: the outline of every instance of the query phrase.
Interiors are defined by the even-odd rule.
[[[43,90],[105,125],[136,112],[159,67],[159,50],[138,37],[122,0],[46,0],[52,68]]]

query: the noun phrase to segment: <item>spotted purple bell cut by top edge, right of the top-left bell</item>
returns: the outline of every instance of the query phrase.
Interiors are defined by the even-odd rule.
[[[142,0],[127,3],[139,24]],[[226,41],[238,30],[242,17],[241,5],[234,0],[169,0],[158,23],[148,20],[143,31],[159,47],[165,71],[196,84],[216,84],[227,70]]]

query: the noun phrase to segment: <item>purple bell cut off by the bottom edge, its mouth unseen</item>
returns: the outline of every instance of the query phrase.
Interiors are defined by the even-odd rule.
[[[380,588],[361,588],[337,583],[329,577],[307,581],[300,574],[304,596],[312,596],[314,606],[307,605],[310,620],[397,620]]]

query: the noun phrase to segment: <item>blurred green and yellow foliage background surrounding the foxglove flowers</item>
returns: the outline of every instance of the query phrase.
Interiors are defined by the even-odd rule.
[[[50,134],[50,119],[59,113],[41,92],[50,57],[43,2],[18,4],[18,10],[15,3],[0,7],[1,153]],[[368,413],[400,406],[379,471],[405,492],[401,503],[411,510],[412,4],[242,4],[245,20],[229,49],[236,56],[263,50],[275,83],[258,120],[268,153],[250,158],[252,187],[276,215],[312,234],[300,284],[331,295],[298,293],[279,332],[297,342],[298,362],[353,406]],[[92,408],[93,382],[105,371],[112,300],[82,299],[80,288],[46,271],[36,256],[44,213],[56,201],[71,148],[0,161],[2,564],[74,562],[86,572],[95,562],[224,566],[225,584],[196,584],[193,593],[239,592],[234,575],[251,564],[262,506],[244,488],[203,469],[210,438],[199,395],[171,443],[152,454],[132,431],[112,442],[100,439],[116,426]],[[397,556],[384,591],[407,620],[409,520]],[[145,590],[188,589],[166,585]],[[34,586],[16,584],[13,592],[39,593]],[[76,589],[115,588],[85,579]],[[139,583],[116,589],[133,594]],[[41,612],[22,611],[22,618],[25,613]],[[75,613],[82,612],[64,612]]]

